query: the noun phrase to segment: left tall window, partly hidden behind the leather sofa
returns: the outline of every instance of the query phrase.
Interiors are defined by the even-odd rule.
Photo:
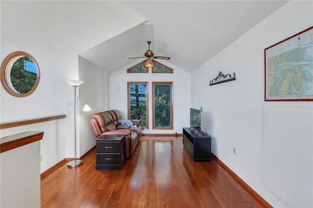
[[[142,128],[148,128],[148,82],[128,82],[127,85],[128,118],[138,119]]]

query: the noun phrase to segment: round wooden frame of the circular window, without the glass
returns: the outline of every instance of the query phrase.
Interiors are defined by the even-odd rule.
[[[11,78],[10,78],[10,74],[11,74],[11,68],[14,62],[16,62],[18,59],[20,59],[21,57],[28,57],[35,65],[36,67],[36,81],[34,83],[34,85],[32,86],[31,90],[29,90],[26,93],[19,93],[17,92],[17,90],[15,90],[15,88],[13,87],[12,83],[11,83]],[[39,83],[39,79],[40,79],[40,72],[39,72],[39,67],[38,64],[36,62],[36,60],[29,55],[28,53],[22,52],[22,51],[15,51],[13,53],[10,53],[9,55],[7,55],[4,60],[1,63],[1,69],[0,69],[0,80],[1,80],[1,84],[3,86],[3,88],[5,89],[5,91],[7,91],[10,95],[14,96],[14,97],[26,97],[28,95],[30,95],[31,93],[33,93],[35,91],[35,89],[38,86]]]

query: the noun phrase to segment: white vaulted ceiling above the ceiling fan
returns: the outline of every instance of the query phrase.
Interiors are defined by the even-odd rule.
[[[286,2],[288,1],[118,1],[145,17],[148,24],[133,27],[80,55],[101,68],[112,71],[134,61],[128,57],[142,57],[148,49],[147,40],[152,39],[150,49],[155,56],[169,56],[171,59],[168,62],[191,72]],[[256,37],[256,41],[257,38],[261,37]],[[138,59],[138,62],[143,60]]]

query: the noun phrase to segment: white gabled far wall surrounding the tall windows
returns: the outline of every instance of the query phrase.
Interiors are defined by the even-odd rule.
[[[126,69],[142,62],[141,59],[114,70],[110,73],[110,109],[119,109],[123,118],[127,118],[127,82],[148,82],[149,93],[149,129],[144,129],[143,133],[173,134],[182,133],[183,126],[189,126],[190,107],[190,73],[167,61],[159,61],[174,69],[173,74],[162,73],[127,73]],[[173,82],[173,130],[153,130],[152,129],[152,82]]]

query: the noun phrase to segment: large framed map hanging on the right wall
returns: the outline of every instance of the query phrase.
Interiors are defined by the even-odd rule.
[[[265,101],[313,101],[313,26],[264,54]]]

